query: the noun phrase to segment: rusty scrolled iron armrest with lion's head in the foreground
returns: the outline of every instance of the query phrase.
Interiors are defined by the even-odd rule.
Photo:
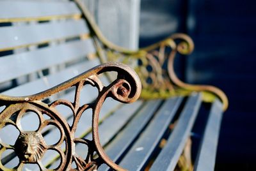
[[[104,85],[100,79],[100,73],[107,73],[108,71],[116,71],[117,78],[109,85]],[[80,92],[84,85],[90,84],[97,87],[99,95],[92,103],[80,104]],[[67,100],[56,100],[51,104],[44,103],[43,100],[60,91],[65,91],[70,87],[76,88],[74,102]],[[56,85],[52,89],[48,89],[42,93],[24,97],[10,97],[0,95],[0,107],[4,108],[0,113],[0,129],[11,124],[19,130],[19,137],[14,145],[5,144],[0,140],[0,156],[7,149],[15,151],[19,157],[19,165],[15,169],[22,170],[26,163],[35,163],[41,170],[45,170],[42,165],[42,156],[49,149],[54,150],[60,154],[61,163],[56,168],[57,170],[70,170],[71,163],[76,162],[78,170],[93,170],[99,167],[102,163],[106,163],[109,167],[115,170],[122,170],[118,165],[113,163],[100,145],[98,123],[99,112],[104,100],[111,97],[123,103],[131,103],[136,101],[141,93],[141,83],[138,75],[124,64],[120,63],[106,63],[86,71],[83,74],[74,77],[67,82]],[[74,115],[73,124],[68,125],[66,119],[56,110],[58,105],[65,105],[72,110]],[[84,138],[76,138],[74,133],[77,129],[77,123],[85,110],[92,109],[92,135],[93,140]],[[26,112],[33,112],[38,115],[39,126],[36,131],[24,131],[20,125],[21,117]],[[43,115],[48,115],[49,119],[45,119]],[[61,133],[60,140],[54,145],[47,145],[42,136],[42,130],[48,125],[56,126]],[[65,142],[65,151],[61,149],[61,144]],[[88,154],[84,159],[76,155],[74,151],[76,143],[85,144],[88,146]],[[97,152],[98,158],[93,158],[93,153]],[[1,170],[6,170],[1,163]]]

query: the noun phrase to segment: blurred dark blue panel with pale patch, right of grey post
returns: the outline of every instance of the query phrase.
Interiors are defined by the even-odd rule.
[[[160,41],[171,33],[186,29],[184,1],[141,0],[140,47]]]

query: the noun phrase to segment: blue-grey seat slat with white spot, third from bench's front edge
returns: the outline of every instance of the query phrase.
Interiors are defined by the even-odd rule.
[[[127,152],[120,165],[127,170],[142,170],[152,152],[156,149],[164,133],[168,130],[182,98],[170,98],[157,112],[147,128]],[[151,108],[151,107],[150,107]]]

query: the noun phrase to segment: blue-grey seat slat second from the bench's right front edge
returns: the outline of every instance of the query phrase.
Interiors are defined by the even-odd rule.
[[[150,170],[174,170],[195,123],[200,104],[200,94],[189,96],[172,134]]]

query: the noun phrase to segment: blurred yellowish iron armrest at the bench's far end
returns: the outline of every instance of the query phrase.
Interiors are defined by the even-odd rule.
[[[227,109],[227,96],[217,87],[186,84],[176,76],[173,70],[175,55],[177,52],[187,55],[194,49],[193,40],[188,35],[173,34],[149,47],[137,51],[128,50],[108,41],[100,32],[84,4],[80,0],[74,1],[83,11],[83,17],[88,22],[100,59],[103,62],[118,61],[128,64],[138,73],[143,87],[141,98],[169,98],[177,95],[186,96],[193,91],[202,91],[204,101],[212,102],[215,98],[219,98],[223,103],[223,110]]]

